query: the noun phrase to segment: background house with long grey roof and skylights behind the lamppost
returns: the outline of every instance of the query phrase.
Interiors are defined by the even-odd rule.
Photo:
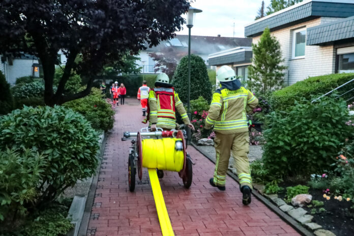
[[[207,66],[209,54],[213,54],[223,50],[229,50],[235,47],[251,46],[251,39],[247,38],[232,38],[232,37],[217,37],[212,36],[191,36],[191,53],[203,58]],[[165,50],[171,50],[173,53],[182,56],[188,55],[188,35],[176,35],[171,40],[162,41],[159,45],[152,48],[142,50],[138,57],[141,58],[137,62],[140,67],[144,68],[144,73],[155,73],[155,61],[149,56],[149,53],[162,53]],[[144,62],[144,63],[142,63]]]

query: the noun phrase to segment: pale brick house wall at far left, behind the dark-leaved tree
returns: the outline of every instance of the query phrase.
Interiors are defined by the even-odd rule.
[[[0,70],[11,85],[14,85],[19,77],[39,77],[39,67],[38,58],[33,55],[22,54],[20,57],[1,56]]]

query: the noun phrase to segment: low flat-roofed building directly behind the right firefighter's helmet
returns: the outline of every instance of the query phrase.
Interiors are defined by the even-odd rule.
[[[249,39],[251,44],[251,39]],[[248,66],[252,58],[252,47],[235,47],[228,50],[219,51],[208,56],[209,65],[216,66],[218,70],[221,66],[230,66],[236,72],[241,81],[248,80]]]

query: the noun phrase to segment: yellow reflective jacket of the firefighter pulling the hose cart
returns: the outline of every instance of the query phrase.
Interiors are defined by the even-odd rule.
[[[158,90],[159,88],[155,88],[155,90]],[[183,106],[183,103],[181,102],[180,98],[178,97],[178,94],[174,92],[173,88],[161,88],[162,90],[169,91],[171,94],[174,95],[174,99],[172,96],[168,96],[170,98],[169,102],[160,102],[159,96],[156,95],[154,90],[151,90],[149,93],[149,108],[150,108],[150,113],[149,113],[149,123],[150,125],[156,124],[156,127],[162,128],[162,129],[174,129],[176,127],[176,119],[175,119],[175,110],[180,113],[182,116],[183,122],[185,125],[188,125],[190,123],[186,109]],[[166,97],[164,98],[166,99]],[[173,104],[174,100],[174,104]],[[169,103],[169,107],[162,107],[162,104]],[[166,105],[165,105],[166,106]],[[163,109],[164,108],[164,109]],[[167,108],[167,109],[166,109]]]

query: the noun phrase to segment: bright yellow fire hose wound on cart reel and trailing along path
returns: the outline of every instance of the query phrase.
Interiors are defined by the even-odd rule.
[[[179,138],[144,139],[142,143],[142,167],[148,168],[151,188],[153,189],[157,214],[162,235],[174,235],[163,199],[156,169],[179,172],[183,169],[183,149],[176,148]],[[173,154],[173,155],[171,155]]]

